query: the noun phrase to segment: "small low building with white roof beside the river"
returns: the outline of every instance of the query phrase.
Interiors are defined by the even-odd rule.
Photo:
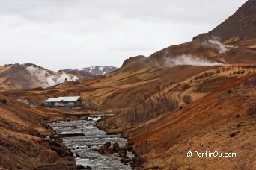
[[[80,96],[49,98],[44,101],[46,107],[81,107],[84,100]]]

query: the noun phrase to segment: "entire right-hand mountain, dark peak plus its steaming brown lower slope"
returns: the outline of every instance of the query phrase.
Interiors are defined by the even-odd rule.
[[[122,70],[149,69],[159,66],[210,66],[217,63],[256,63],[256,0],[246,1],[232,16],[209,33],[192,42],[171,45],[149,57],[130,57]]]

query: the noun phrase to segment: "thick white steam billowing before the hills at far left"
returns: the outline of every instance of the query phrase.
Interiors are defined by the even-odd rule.
[[[52,75],[51,73],[46,72],[46,70],[40,69],[35,66],[27,66],[26,69],[28,70],[28,72],[31,73],[32,78],[36,78],[36,81],[39,81],[39,83],[42,84],[43,88],[55,86],[56,84],[62,84],[65,81],[77,81],[79,79],[76,76],[70,78],[70,76],[64,72],[61,74],[60,77],[58,77],[57,73],[55,75]]]

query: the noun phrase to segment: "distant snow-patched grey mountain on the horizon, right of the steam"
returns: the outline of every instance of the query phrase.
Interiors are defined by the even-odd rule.
[[[114,72],[116,69],[118,68],[115,66],[91,66],[91,67],[85,67],[82,69],[63,69],[63,70],[59,70],[58,72],[80,73],[85,77],[86,77],[86,74],[88,74],[87,77],[91,77],[92,75],[106,75],[109,72]]]

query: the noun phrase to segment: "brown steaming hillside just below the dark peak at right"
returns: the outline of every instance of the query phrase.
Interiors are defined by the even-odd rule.
[[[137,56],[124,61],[124,72],[177,65],[217,66],[223,63],[256,64],[256,38],[239,41],[236,46],[223,45],[218,40],[192,41],[171,45],[149,57]]]

